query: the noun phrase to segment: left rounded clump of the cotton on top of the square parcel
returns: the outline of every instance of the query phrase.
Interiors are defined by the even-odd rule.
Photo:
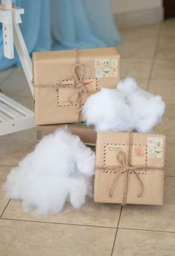
[[[96,131],[131,131],[132,113],[124,96],[115,89],[101,88],[83,106],[87,125]]]

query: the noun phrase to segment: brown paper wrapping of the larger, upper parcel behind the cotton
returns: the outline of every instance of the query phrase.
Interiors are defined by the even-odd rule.
[[[115,48],[34,52],[34,113],[36,125],[83,122],[80,107],[101,87],[115,88],[120,56]],[[81,104],[76,102],[75,63],[83,66]],[[81,75],[77,67],[77,75]],[[60,87],[61,84],[61,87]]]

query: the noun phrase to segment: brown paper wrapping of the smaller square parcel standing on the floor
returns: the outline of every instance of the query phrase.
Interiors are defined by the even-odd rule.
[[[112,196],[109,190],[116,178],[118,166],[118,152],[128,154],[130,133],[100,132],[97,136],[95,166],[95,202],[121,203],[124,199],[124,178],[121,174],[114,184]],[[116,166],[115,169],[105,169],[106,166]],[[162,134],[133,133],[131,141],[131,166],[147,166],[143,170],[136,170],[143,184],[143,193],[139,197],[141,187],[136,175],[128,172],[127,204],[162,205],[164,177],[165,177],[165,136]],[[150,167],[153,167],[151,169]],[[156,167],[156,168],[155,168]]]

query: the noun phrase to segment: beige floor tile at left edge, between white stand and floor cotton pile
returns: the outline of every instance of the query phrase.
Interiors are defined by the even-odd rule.
[[[0,137],[0,164],[17,165],[36,145],[35,128]]]

